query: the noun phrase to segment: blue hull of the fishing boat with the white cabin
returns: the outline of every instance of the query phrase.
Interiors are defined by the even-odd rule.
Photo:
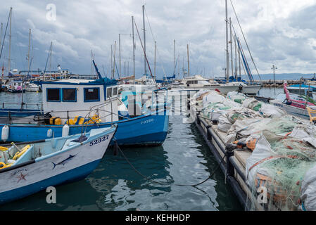
[[[115,139],[118,144],[125,145],[146,145],[163,143],[165,141],[165,134],[168,131],[169,115],[168,110],[165,115],[146,115],[135,117],[132,120],[118,121],[118,129],[115,133]],[[4,124],[0,124],[0,131]],[[91,129],[110,127],[111,123],[101,123],[99,127],[96,125],[87,126],[87,132]],[[49,126],[49,125],[30,125],[30,124],[12,124],[9,125],[8,141],[37,141],[47,139],[47,130],[52,129],[55,137],[62,136],[63,126]],[[84,127],[85,129],[85,127]],[[70,126],[69,134],[80,134],[82,126]],[[155,134],[165,133],[156,136]],[[139,138],[141,137],[141,138]],[[8,142],[7,141],[7,142]]]

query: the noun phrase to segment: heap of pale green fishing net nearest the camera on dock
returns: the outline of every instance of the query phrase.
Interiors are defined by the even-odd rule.
[[[247,210],[299,210],[301,184],[306,172],[316,165],[316,148],[289,135],[276,135],[292,131],[291,121],[282,127],[277,122],[270,125],[246,161],[246,179],[252,192]],[[263,189],[266,201],[260,198],[265,193]]]

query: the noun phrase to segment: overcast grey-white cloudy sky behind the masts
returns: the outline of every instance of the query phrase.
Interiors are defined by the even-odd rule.
[[[316,72],[316,0],[232,0],[239,22],[260,74]],[[56,20],[53,20],[53,4]],[[178,70],[187,69],[189,44],[190,74],[223,76],[225,68],[225,0],[1,0],[0,22],[6,28],[12,17],[11,69],[27,70],[28,32],[32,30],[32,70],[44,70],[53,41],[51,69],[61,64],[71,72],[91,73],[91,50],[99,70],[110,75],[110,46],[121,34],[121,74],[132,74],[132,19],[142,33],[142,5],[146,8],[146,53],[153,72],[154,40],[157,41],[157,77],[172,75],[173,40],[176,40]],[[228,0],[229,17],[240,39],[241,32]],[[150,27],[149,27],[150,25]],[[4,30],[1,38],[4,37]],[[144,53],[135,29],[136,75],[144,74]],[[246,45],[242,42],[244,51]],[[248,62],[251,59],[246,52]],[[8,39],[0,59],[8,64]],[[124,64],[126,65],[124,69]],[[253,69],[253,74],[255,70]],[[148,72],[149,73],[149,72]],[[117,77],[117,74],[115,74]]]

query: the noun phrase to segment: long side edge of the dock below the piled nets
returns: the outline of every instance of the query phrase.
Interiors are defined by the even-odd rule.
[[[211,153],[215,156],[220,169],[225,174],[227,184],[232,186],[233,191],[245,210],[267,211],[280,210],[270,203],[259,203],[255,190],[247,185],[246,181],[246,160],[251,157],[252,151],[247,148],[229,148],[225,143],[227,133],[218,129],[218,124],[203,117],[201,109],[195,103],[187,101],[187,108],[190,113],[190,120],[206,141]],[[268,200],[270,201],[270,200]],[[297,210],[293,206],[289,210]]]

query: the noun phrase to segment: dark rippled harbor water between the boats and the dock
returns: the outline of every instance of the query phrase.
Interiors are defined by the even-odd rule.
[[[282,89],[263,88],[260,96],[271,97]],[[0,103],[20,102],[22,94],[0,93]],[[25,93],[27,103],[42,101],[42,93]],[[33,105],[33,108],[37,108]],[[244,210],[232,188],[225,184],[217,162],[194,124],[185,115],[170,116],[167,139],[162,146],[122,148],[129,162],[156,184],[137,174],[125,158],[109,148],[99,166],[86,179],[56,186],[56,204],[46,203],[41,191],[27,198],[0,205],[0,210]]]

